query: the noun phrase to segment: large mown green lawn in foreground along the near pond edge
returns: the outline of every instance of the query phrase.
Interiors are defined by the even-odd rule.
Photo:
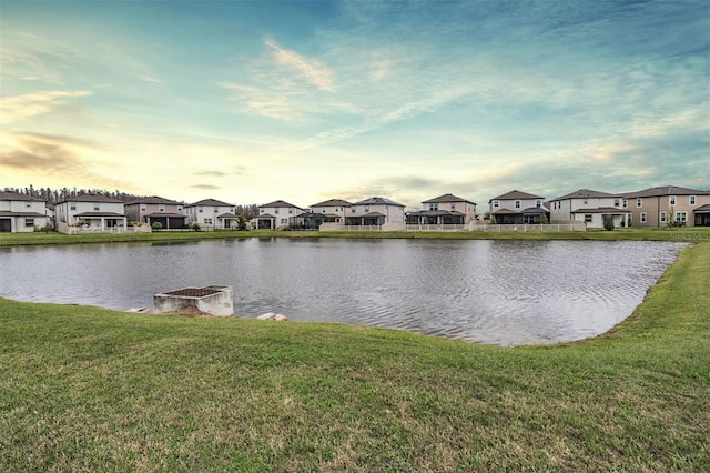
[[[513,349],[0,299],[0,471],[708,471],[708,281]]]

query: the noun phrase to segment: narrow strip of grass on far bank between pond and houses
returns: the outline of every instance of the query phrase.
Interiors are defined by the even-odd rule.
[[[616,229],[586,232],[284,232],[255,230],[251,232],[154,232],[154,233],[87,233],[67,235],[58,232],[0,233],[0,248],[32,244],[78,244],[112,242],[179,242],[244,238],[343,238],[343,239],[440,239],[440,240],[656,240],[710,241],[710,228]]]

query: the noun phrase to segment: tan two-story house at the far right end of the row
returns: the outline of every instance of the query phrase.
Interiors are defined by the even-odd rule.
[[[710,192],[663,185],[623,194],[635,227],[710,227]]]

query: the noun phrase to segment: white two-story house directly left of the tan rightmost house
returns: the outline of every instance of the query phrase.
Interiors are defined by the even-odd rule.
[[[602,229],[605,217],[611,217],[615,227],[628,227],[631,212],[620,194],[580,189],[552,199],[550,223],[585,222],[588,229]]]

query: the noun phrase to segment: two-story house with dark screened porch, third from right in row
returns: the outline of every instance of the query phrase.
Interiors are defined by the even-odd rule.
[[[488,201],[488,213],[498,224],[542,223],[550,221],[550,211],[542,195],[513,190]]]

